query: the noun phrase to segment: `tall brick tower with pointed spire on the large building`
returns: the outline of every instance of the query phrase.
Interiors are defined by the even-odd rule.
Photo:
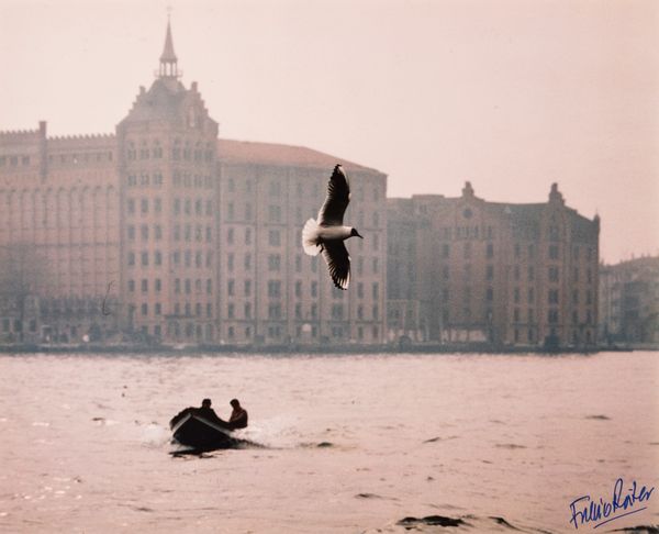
[[[180,81],[171,27],[156,80],[116,126],[124,329],[168,342],[215,335],[217,123]]]

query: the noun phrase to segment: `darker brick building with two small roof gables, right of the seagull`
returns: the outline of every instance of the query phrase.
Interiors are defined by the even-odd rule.
[[[390,199],[388,211],[389,270],[402,270],[390,276],[388,296],[418,309],[417,337],[596,343],[600,221],[568,208],[556,185],[546,203],[487,202],[467,182],[459,198]],[[391,310],[388,331],[410,335]]]

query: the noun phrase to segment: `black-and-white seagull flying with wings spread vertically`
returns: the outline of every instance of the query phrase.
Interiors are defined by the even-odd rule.
[[[302,229],[302,248],[310,256],[323,253],[332,281],[338,289],[348,289],[350,282],[350,255],[344,241],[359,235],[357,229],[345,226],[343,215],[350,201],[350,182],[340,165],[327,183],[327,197],[319,211],[319,220],[310,219]]]

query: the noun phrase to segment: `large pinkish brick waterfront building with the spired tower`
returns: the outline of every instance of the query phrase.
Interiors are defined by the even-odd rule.
[[[382,343],[387,177],[217,134],[180,80],[169,25],[157,77],[114,135],[0,133],[2,340]],[[366,235],[348,244],[349,291],[300,237],[337,163],[346,220]]]

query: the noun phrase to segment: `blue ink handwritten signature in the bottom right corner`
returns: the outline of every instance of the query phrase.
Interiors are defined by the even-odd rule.
[[[570,511],[572,513],[570,523],[574,525],[574,529],[579,529],[579,525],[599,521],[599,523],[593,526],[593,529],[596,529],[597,526],[602,526],[604,523],[624,518],[625,515],[640,512],[648,508],[643,507],[632,510],[637,503],[649,500],[649,498],[652,496],[655,487],[648,490],[645,486],[643,486],[639,489],[636,485],[636,480],[634,480],[627,490],[628,494],[626,494],[623,499],[624,486],[625,483],[623,482],[622,478],[618,478],[615,481],[615,486],[613,487],[613,498],[611,501],[605,501],[600,497],[600,502],[597,502],[591,499],[591,496],[582,496],[578,499],[574,499],[570,503]],[[621,511],[624,511],[625,513],[615,515]]]

